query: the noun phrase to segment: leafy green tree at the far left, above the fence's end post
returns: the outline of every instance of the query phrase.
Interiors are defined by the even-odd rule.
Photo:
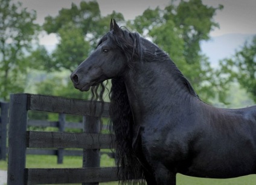
[[[4,100],[10,93],[24,90],[28,67],[25,55],[39,30],[35,19],[36,12],[28,12],[21,2],[0,0],[0,98]]]

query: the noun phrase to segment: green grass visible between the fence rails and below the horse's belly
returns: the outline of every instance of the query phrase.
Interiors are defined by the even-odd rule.
[[[27,168],[81,168],[82,157],[65,156],[63,164],[57,164],[56,156],[37,156],[27,155]],[[101,166],[114,166],[114,160],[107,155],[101,156]],[[7,162],[0,161],[0,169],[7,170]],[[117,185],[114,183],[100,183],[101,185]],[[177,175],[178,185],[254,185],[256,184],[256,175],[248,175],[246,177],[231,178],[231,179],[209,179],[209,178],[194,178],[185,175]]]

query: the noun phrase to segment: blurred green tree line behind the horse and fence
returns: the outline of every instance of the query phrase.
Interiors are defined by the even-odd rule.
[[[110,19],[114,18],[119,25],[139,32],[165,50],[203,101],[219,99],[225,103],[226,92],[236,81],[256,102],[256,36],[234,56],[220,61],[218,69],[211,67],[200,48],[200,42],[209,40],[210,31],[219,27],[214,16],[222,8],[204,5],[201,0],[181,0],[178,5],[148,8],[134,20],[124,20],[123,14],[116,11],[102,16],[97,1],[81,1],[62,8],[57,16],[45,17],[39,26],[34,23],[36,11],[28,11],[21,2],[0,0],[0,99],[8,100],[10,93],[24,92],[31,70],[51,74],[35,84],[37,93],[88,99],[88,93],[74,90],[68,75],[63,79],[56,71],[74,70],[109,31]],[[59,38],[53,52],[39,44],[41,31]]]

